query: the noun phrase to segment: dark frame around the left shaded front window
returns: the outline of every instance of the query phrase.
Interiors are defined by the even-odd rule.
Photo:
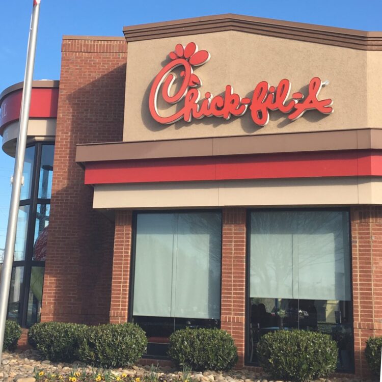
[[[137,243],[137,217],[138,214],[168,214],[168,213],[200,213],[200,212],[218,212],[221,214],[221,251],[220,251],[220,312],[219,312],[219,328],[221,327],[222,316],[222,267],[223,267],[223,210],[222,208],[207,208],[207,209],[160,209],[160,210],[134,210],[132,213],[132,228],[131,228],[131,256],[130,256],[130,274],[129,274],[129,294],[128,294],[128,316],[127,322],[133,322],[133,299],[134,299],[134,279],[135,279],[135,256]],[[176,317],[173,317],[174,319]],[[143,356],[145,357],[145,355]],[[152,356],[147,356],[152,358]],[[168,359],[168,357],[155,356],[156,358]]]

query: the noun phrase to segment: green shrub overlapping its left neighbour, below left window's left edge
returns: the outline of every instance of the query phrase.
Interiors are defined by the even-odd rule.
[[[102,367],[130,366],[146,351],[145,332],[134,323],[89,326],[81,338],[79,360]]]

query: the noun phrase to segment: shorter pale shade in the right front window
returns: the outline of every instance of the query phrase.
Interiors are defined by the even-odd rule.
[[[252,212],[250,294],[349,301],[347,212]]]

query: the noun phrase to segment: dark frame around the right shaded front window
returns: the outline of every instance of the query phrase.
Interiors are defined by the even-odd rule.
[[[244,325],[244,365],[246,366],[259,366],[256,362],[250,362],[250,321],[251,321],[251,214],[252,212],[282,212],[282,211],[341,211],[347,212],[349,216],[348,229],[349,229],[349,272],[350,272],[350,301],[349,306],[349,322],[351,322],[352,337],[354,341],[354,314],[353,314],[353,271],[352,271],[352,247],[351,247],[351,217],[349,207],[299,207],[299,208],[248,208],[247,209],[247,222],[246,222],[246,248],[245,248],[245,325]],[[353,361],[354,361],[354,342],[353,342]],[[340,370],[341,373],[354,373],[354,362],[349,370]]]

